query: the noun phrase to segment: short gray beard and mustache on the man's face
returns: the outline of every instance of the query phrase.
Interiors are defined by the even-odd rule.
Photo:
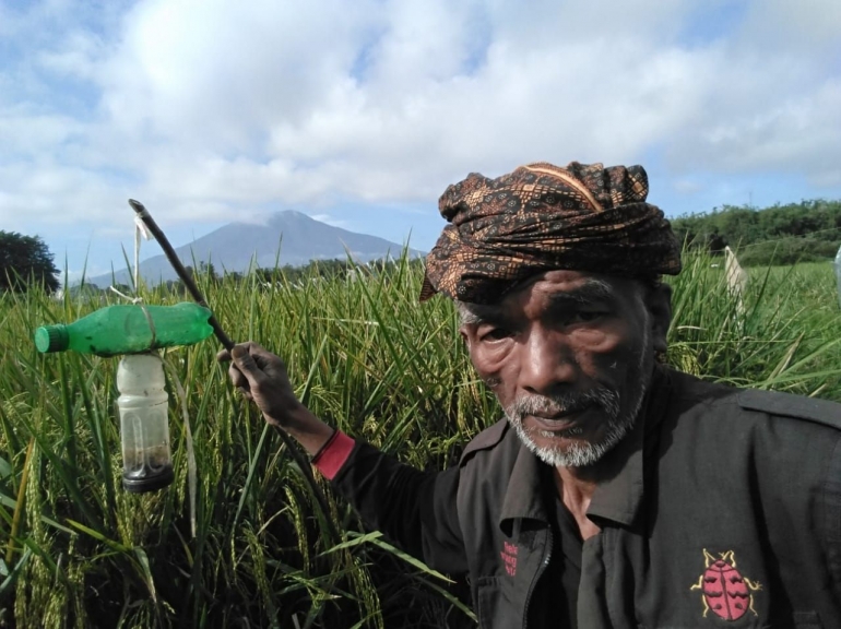
[[[619,392],[607,388],[597,388],[583,393],[566,393],[557,395],[521,395],[506,408],[506,417],[513,427],[520,441],[541,461],[553,467],[585,467],[592,465],[609,452],[630,431],[637,420],[642,400],[650,383],[651,360],[648,359],[649,335],[645,334],[643,351],[639,363],[635,366],[639,378],[630,383],[628,412],[623,414]],[[560,446],[538,447],[532,435],[536,428],[523,428],[523,417],[526,415],[555,414],[565,411],[578,411],[597,405],[607,415],[607,432],[595,442],[572,442],[564,449]],[[565,436],[575,437],[580,429],[570,428]],[[557,434],[538,431],[542,437],[557,438]]]

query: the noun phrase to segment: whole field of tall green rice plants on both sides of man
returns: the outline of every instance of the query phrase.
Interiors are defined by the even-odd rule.
[[[286,359],[315,413],[413,465],[440,468],[499,412],[458,341],[451,305],[416,302],[422,275],[401,260],[297,285],[280,273],[270,286],[200,281],[233,339],[259,341]],[[841,399],[834,289],[821,288],[822,280],[813,286],[813,276],[795,270],[754,277],[738,308],[709,260],[689,260],[674,282],[670,359],[707,378]],[[181,299],[141,293],[147,302]],[[832,307],[822,311],[825,300]],[[212,341],[165,355],[191,417],[196,537],[171,382],[176,480],[152,495],[125,492],[116,361],[42,356],[31,341],[38,325],[72,321],[102,305],[0,295],[0,622],[472,625],[460,584],[365,531],[320,480],[322,509],[277,436],[232,391]]]

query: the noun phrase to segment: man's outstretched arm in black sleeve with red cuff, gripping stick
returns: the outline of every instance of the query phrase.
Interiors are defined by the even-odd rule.
[[[422,472],[355,442],[316,417],[296,397],[283,360],[257,343],[223,351],[234,385],[269,424],[281,427],[313,455],[313,464],[371,527],[406,553],[450,573],[466,572],[455,511],[459,468]]]

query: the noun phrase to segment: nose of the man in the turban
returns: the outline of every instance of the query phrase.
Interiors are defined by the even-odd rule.
[[[549,394],[579,377],[579,366],[567,340],[557,333],[534,331],[521,347],[520,388]]]

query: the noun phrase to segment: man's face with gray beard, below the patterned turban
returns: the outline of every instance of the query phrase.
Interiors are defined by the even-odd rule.
[[[591,465],[633,425],[665,335],[648,299],[631,280],[550,271],[465,306],[473,365],[545,463]]]

